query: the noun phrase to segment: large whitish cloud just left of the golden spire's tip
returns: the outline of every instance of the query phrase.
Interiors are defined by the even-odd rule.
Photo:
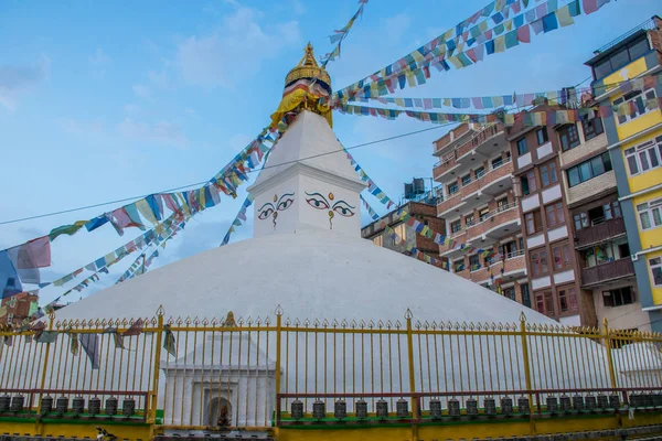
[[[193,35],[177,50],[177,66],[183,80],[203,87],[232,87],[256,74],[260,64],[299,42],[296,21],[263,26],[265,14],[231,2],[236,10],[226,14],[215,31]]]

